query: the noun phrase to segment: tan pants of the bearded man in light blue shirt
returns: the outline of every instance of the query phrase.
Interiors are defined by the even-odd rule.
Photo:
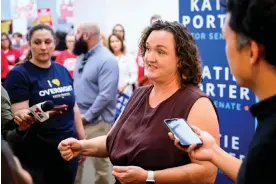
[[[110,129],[111,129],[111,125],[109,125],[104,121],[98,121],[84,126],[85,135],[87,139],[92,139],[98,136],[106,135]],[[108,184],[109,159],[87,157],[87,159],[88,158],[92,159],[92,163],[95,168],[95,173],[96,173],[95,184]],[[79,165],[75,184],[81,184],[83,169],[84,169],[84,163]]]

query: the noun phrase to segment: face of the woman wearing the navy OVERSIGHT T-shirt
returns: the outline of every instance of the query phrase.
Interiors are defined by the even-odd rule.
[[[55,49],[52,33],[46,29],[37,30],[33,33],[30,42],[33,58],[40,62],[48,62]]]

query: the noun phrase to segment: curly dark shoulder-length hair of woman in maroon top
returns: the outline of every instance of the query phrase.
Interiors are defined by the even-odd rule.
[[[194,84],[199,86],[202,82],[202,66],[199,51],[191,32],[177,22],[158,20],[153,25],[147,27],[139,43],[141,55],[146,53],[146,42],[152,31],[164,30],[174,36],[175,53],[179,57],[178,72],[181,78],[181,86]]]

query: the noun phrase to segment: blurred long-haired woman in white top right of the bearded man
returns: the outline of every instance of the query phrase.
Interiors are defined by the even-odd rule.
[[[108,47],[116,56],[119,65],[119,96],[115,113],[116,120],[134,91],[138,69],[134,57],[125,53],[125,45],[121,37],[115,34],[110,35]]]

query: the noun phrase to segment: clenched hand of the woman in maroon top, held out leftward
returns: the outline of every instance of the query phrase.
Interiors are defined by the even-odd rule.
[[[58,145],[58,150],[64,160],[72,160],[82,151],[82,144],[79,140],[68,138],[61,141]]]

